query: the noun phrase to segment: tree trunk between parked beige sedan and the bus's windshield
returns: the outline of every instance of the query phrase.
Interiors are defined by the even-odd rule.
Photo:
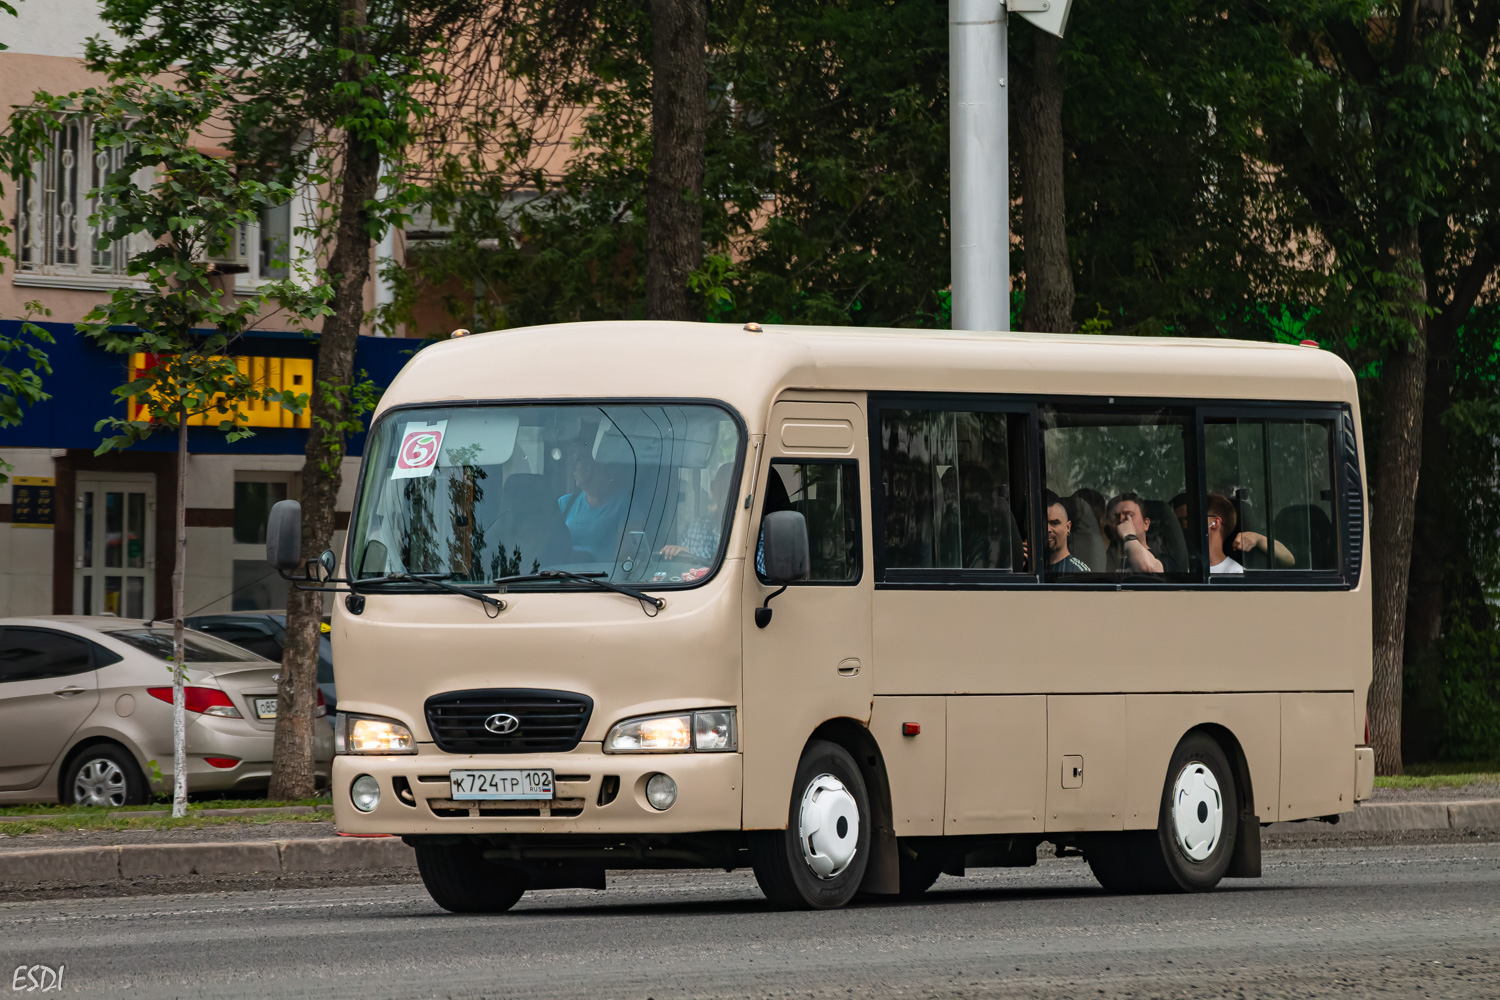
[[[364,0],[345,0],[345,48],[363,46]],[[360,82],[366,70],[357,58],[345,64],[345,79]],[[344,430],[354,384],[354,349],[364,321],[364,283],[370,274],[369,208],[380,186],[380,150],[363,136],[344,138],[339,175],[339,223],[328,273],[334,282],[332,315],[318,340],[318,367],[309,400],[310,429],[302,465],[302,559],[333,547],[336,501],[342,481]],[[291,588],[286,594],[286,649],[276,687],[276,747],[267,798],[306,799],[316,786],[314,711],[318,703],[318,639],[322,595]]]

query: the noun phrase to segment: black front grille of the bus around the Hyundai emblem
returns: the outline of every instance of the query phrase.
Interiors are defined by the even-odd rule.
[[[495,688],[428,699],[428,732],[450,754],[555,754],[578,747],[594,699],[572,691]],[[519,720],[513,732],[484,727],[495,715]],[[504,721],[504,720],[501,720]]]

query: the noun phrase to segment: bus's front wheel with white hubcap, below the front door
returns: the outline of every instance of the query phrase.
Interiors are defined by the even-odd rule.
[[[828,777],[843,787],[842,793],[825,780]],[[808,852],[804,852],[800,838],[802,799],[810,793],[814,795],[814,804],[830,796],[825,799],[831,804],[830,808],[836,808],[837,804],[848,807],[852,798],[858,816],[855,831],[848,829],[848,808],[840,813],[836,820],[838,825],[832,826],[826,837],[819,840],[818,831],[813,831],[808,852],[820,859],[819,864],[832,865],[826,877],[813,870]],[[820,847],[832,847],[834,852],[824,853]],[[854,855],[844,859],[849,847],[854,849]],[[866,793],[860,766],[849,751],[820,739],[807,745],[792,781],[786,829],[756,834],[750,841],[750,852],[760,891],[780,910],[832,910],[854,898],[870,864],[870,796]]]

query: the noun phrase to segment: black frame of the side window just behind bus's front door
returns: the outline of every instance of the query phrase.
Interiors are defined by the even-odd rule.
[[[870,393],[868,396],[868,444],[870,444],[870,550],[874,559],[876,588],[948,588],[992,589],[1035,586],[1040,580],[1035,565],[1029,570],[970,570],[963,567],[891,567],[885,549],[885,444],[884,417],[900,409],[924,409],[932,412],[986,412],[1006,414],[1022,418],[1023,429],[1017,441],[1006,441],[1014,456],[1022,451],[1022,496],[1026,501],[1024,523],[1017,519],[1017,528],[1024,531],[1023,541],[1035,547],[1041,535],[1041,459],[1038,454],[1041,430],[1036,423],[1036,400],[1017,396],[988,396],[975,393]],[[1035,553],[1032,556],[1035,564]]]

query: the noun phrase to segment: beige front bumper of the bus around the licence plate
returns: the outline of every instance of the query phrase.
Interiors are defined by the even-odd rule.
[[[550,768],[552,802],[454,802],[454,768]],[[362,774],[380,783],[380,805],[360,813],[350,786]],[[676,804],[657,811],[646,804],[654,774],[676,781]],[[742,759],[723,754],[606,754],[600,744],[579,744],[566,754],[446,754],[418,744],[417,754],[333,759],[333,813],[344,834],[694,834],[738,831]],[[411,801],[398,795],[402,778]],[[618,780],[609,799],[606,778]],[[608,799],[608,801],[606,801]]]

